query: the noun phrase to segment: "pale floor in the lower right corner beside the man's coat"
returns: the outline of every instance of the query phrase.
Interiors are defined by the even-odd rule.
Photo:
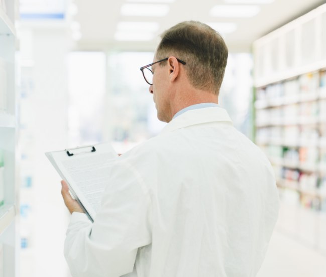
[[[257,277],[326,277],[326,256],[274,231]]]

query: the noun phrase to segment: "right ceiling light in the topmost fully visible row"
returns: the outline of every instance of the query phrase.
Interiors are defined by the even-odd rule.
[[[213,17],[253,17],[259,12],[257,5],[216,5],[209,14]]]

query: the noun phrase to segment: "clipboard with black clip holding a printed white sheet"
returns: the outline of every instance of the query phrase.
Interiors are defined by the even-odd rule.
[[[110,167],[118,157],[110,143],[46,152],[54,168],[69,186],[91,221],[101,204]]]

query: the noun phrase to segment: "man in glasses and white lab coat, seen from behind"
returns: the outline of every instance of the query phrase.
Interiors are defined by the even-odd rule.
[[[278,195],[269,161],[218,106],[227,56],[221,36],[200,22],[163,33],[141,70],[168,124],[117,159],[93,224],[62,182],[73,276],[257,274]]]

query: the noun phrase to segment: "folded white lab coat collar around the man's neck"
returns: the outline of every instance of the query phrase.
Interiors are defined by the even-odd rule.
[[[160,134],[171,132],[191,125],[222,121],[232,124],[231,118],[229,117],[227,111],[223,108],[209,107],[189,110],[172,119],[167,125],[165,125]]]

